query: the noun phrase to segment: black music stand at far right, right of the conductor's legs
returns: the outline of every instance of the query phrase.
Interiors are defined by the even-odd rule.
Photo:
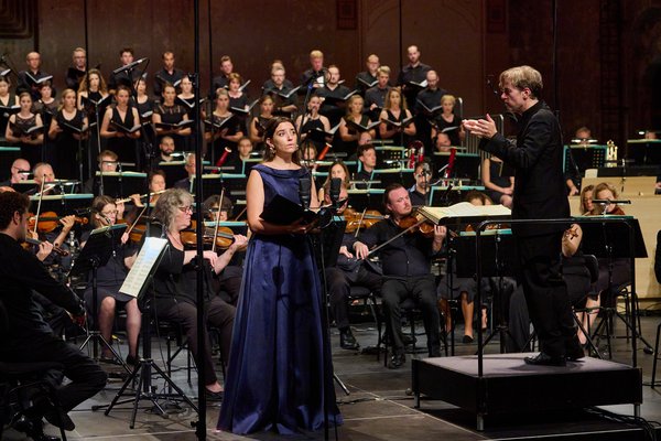
[[[604,218],[613,218],[616,216],[603,216]],[[619,217],[619,216],[617,216]],[[592,219],[598,219],[598,216],[593,216]],[[631,218],[628,224],[625,223],[599,223],[589,222],[589,223],[581,223],[581,219],[577,219],[578,224],[581,224],[581,228],[583,229],[583,252],[595,255],[598,258],[608,259],[608,294],[615,295],[613,292],[613,269],[614,269],[614,259],[633,259],[633,258],[646,258],[648,257],[647,248],[644,246],[644,239],[642,238],[642,232],[640,230],[640,224],[638,219]],[[629,232],[633,233],[633,256],[631,256],[631,249],[629,246]],[[631,278],[635,278],[636,273],[631,273]],[[632,323],[627,319],[626,315],[617,311],[617,304],[607,305],[600,308],[606,312],[606,315],[602,318],[602,321],[597,324],[597,327],[593,332],[593,340],[596,335],[599,334],[602,330],[606,331],[606,335],[608,338],[608,355],[613,358],[611,345],[610,345],[610,327],[613,326],[613,319],[618,318],[626,326],[627,331],[631,332],[632,338],[639,338],[644,347],[643,352],[646,354],[652,354],[652,346],[648,343],[647,340],[642,336],[641,326],[640,326],[640,315],[636,313],[638,310],[638,293],[632,289],[631,290],[631,320]],[[605,299],[602,299],[604,301]],[[629,336],[627,332],[627,338]]]

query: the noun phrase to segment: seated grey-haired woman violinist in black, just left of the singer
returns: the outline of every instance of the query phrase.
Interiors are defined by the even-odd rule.
[[[171,189],[161,194],[154,211],[163,225],[163,235],[169,247],[161,259],[153,278],[154,311],[160,320],[169,320],[183,326],[195,363],[205,364],[207,399],[221,399],[223,387],[214,370],[212,345],[205,331],[205,353],[198,352],[197,344],[197,298],[196,298],[196,251],[185,250],[181,232],[191,225],[193,196],[181,189]],[[235,308],[216,295],[210,287],[212,272],[217,276],[231,260],[236,250],[245,247],[247,238],[235,236],[235,241],[218,256],[215,251],[204,251],[205,276],[204,295],[207,323],[219,329],[220,353],[225,363],[229,361],[229,345],[234,326]],[[206,324],[206,323],[205,323]],[[206,330],[206,326],[205,326]]]

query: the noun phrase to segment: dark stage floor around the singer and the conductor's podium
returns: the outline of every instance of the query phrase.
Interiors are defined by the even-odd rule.
[[[642,318],[643,335],[653,343],[654,332],[659,318]],[[621,327],[621,326],[620,326]],[[420,326],[422,329],[422,326]],[[376,342],[376,330],[372,324],[359,324],[355,327],[355,335],[362,346]],[[342,389],[336,387],[340,411],[345,423],[338,428],[337,439],[350,441],[378,441],[378,440],[520,440],[544,438],[544,440],[642,440],[642,431],[635,426],[613,421],[595,412],[584,410],[570,410],[561,412],[543,412],[534,415],[513,415],[494,417],[488,419],[486,430],[475,430],[475,415],[449,404],[422,398],[420,409],[414,408],[413,395],[411,394],[411,355],[407,356],[407,364],[398,369],[390,370],[383,367],[382,358],[378,363],[376,355],[359,354],[344,351],[338,346],[337,332],[333,330],[333,358],[336,374],[347,385],[350,395],[346,396]],[[621,331],[621,330],[620,330]],[[460,326],[457,329],[456,340],[463,335]],[[418,345],[424,347],[424,336]],[[165,344],[153,344],[154,359],[161,364],[165,356]],[[126,354],[126,347],[120,346]],[[615,344],[614,361],[629,363],[631,358],[630,346],[624,340]],[[457,343],[456,355],[473,355],[476,345]],[[488,353],[497,353],[498,344],[494,343],[487,349]],[[419,354],[424,358],[425,354]],[[639,349],[639,365],[642,367],[643,383],[651,378],[651,366],[653,357],[646,355]],[[186,359],[180,355],[175,364],[180,367],[173,378],[187,394],[195,395],[195,387],[186,380]],[[105,365],[108,370],[115,366]],[[661,369],[661,367],[660,367]],[[193,380],[196,379],[195,373]],[[163,381],[154,379],[154,385],[162,387]],[[116,408],[108,417],[102,411],[91,411],[91,406],[108,404],[117,392],[121,381],[113,380],[108,387],[72,412],[76,423],[76,430],[68,432],[69,440],[195,440],[194,429],[191,422],[197,419],[197,415],[188,409],[171,410],[167,419],[153,415],[148,409],[148,401],[143,401],[138,411],[134,429],[129,429],[130,408],[128,405]],[[604,388],[617,388],[617,384],[604,384]],[[643,386],[643,404],[641,416],[649,421],[661,420],[661,388],[654,390]],[[218,406],[209,405],[207,410],[207,438],[209,440],[273,440],[279,439],[270,433],[259,433],[250,437],[237,437],[231,433],[219,433],[214,430],[218,417]],[[630,405],[607,406],[606,409],[626,416],[633,415]],[[46,431],[57,434],[52,427]],[[335,433],[330,429],[330,439]],[[22,440],[22,434],[6,432],[3,440]],[[302,433],[296,437],[288,437],[291,440],[323,440],[324,433]]]

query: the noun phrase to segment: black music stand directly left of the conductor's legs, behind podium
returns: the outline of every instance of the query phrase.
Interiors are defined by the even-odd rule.
[[[494,234],[491,234],[494,233]],[[456,247],[456,266],[458,277],[475,277],[477,273],[477,254],[476,254],[476,236],[459,236]],[[506,311],[508,309],[509,299],[506,299],[503,293],[505,286],[502,280],[507,276],[514,276],[518,271],[519,263],[514,247],[514,238],[510,233],[503,234],[494,229],[483,233],[480,237],[479,258],[481,259],[483,277],[498,278],[498,299],[494,293],[494,315],[498,320],[498,324],[484,341],[483,346],[486,346],[496,335],[500,338],[500,353],[506,353],[506,337],[512,338],[509,331]],[[481,280],[477,281],[481,283]],[[478,289],[480,289],[478,287]],[[481,304],[479,305],[481,308]]]

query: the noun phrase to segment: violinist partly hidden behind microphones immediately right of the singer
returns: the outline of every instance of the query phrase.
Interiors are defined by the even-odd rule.
[[[324,190],[325,204],[330,204],[330,195],[328,194],[329,186],[330,184],[328,183]],[[347,187],[344,185],[340,186],[339,200],[345,201],[337,209],[337,214],[342,215],[348,203],[348,192]],[[365,287],[371,292],[380,292],[382,283],[382,277],[377,271],[378,268],[376,268],[375,265],[366,265],[367,260],[360,260],[349,251],[354,240],[353,233],[345,233],[342,246],[339,247],[337,265],[325,269],[330,311],[335,319],[335,324],[339,330],[339,346],[343,349],[349,351],[358,349],[360,347],[349,326],[348,298],[350,288],[353,286]]]

